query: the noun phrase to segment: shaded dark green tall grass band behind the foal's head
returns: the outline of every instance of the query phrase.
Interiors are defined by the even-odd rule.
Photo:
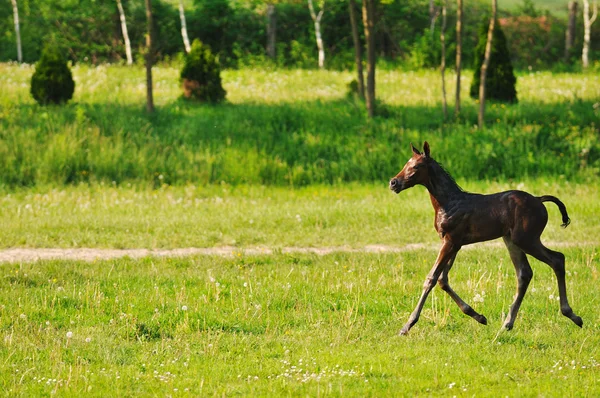
[[[489,103],[487,128],[479,131],[472,106],[444,121],[439,106],[380,104],[368,120],[363,104],[351,99],[219,106],[178,100],[152,115],[113,103],[16,105],[0,119],[0,184],[382,181],[408,158],[409,142],[424,140],[456,177],[597,176],[593,106]]]

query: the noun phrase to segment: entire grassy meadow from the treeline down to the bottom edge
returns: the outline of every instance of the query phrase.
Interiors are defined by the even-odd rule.
[[[598,76],[521,73],[519,104],[490,104],[477,131],[469,74],[463,115],[444,121],[433,71],[381,71],[374,120],[346,72],[228,70],[228,103],[212,107],[181,101],[161,65],[152,116],[138,68],[78,65],[72,103],[48,108],[31,73],[0,65],[0,248],[234,252],[0,263],[4,395],[599,395]],[[583,329],[532,260],[500,332],[516,281],[498,242],[461,251],[450,274],[487,327],[436,288],[398,336],[439,240],[425,189],[387,182],[424,139],[466,190],[565,202],[572,224],[548,204],[542,239],[567,257]],[[344,252],[369,245],[399,251]]]

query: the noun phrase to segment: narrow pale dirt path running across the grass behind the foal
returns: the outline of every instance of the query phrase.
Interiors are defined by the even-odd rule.
[[[574,246],[598,246],[597,242],[579,242],[579,243],[559,243],[547,242],[549,247],[574,247]],[[487,242],[473,246],[466,246],[465,249],[474,249],[478,247],[503,247],[502,242]],[[409,244],[405,246],[386,246],[386,245],[368,245],[362,248],[352,248],[349,246],[329,246],[329,247],[233,247],[220,246],[209,248],[180,248],[180,249],[95,249],[95,248],[74,248],[74,249],[44,249],[44,248],[14,248],[0,250],[0,263],[32,262],[38,260],[108,260],[121,257],[143,258],[143,257],[187,257],[187,256],[235,256],[262,255],[274,253],[314,253],[317,255],[326,255],[330,253],[400,253],[413,250],[437,250],[438,245],[428,244]]]

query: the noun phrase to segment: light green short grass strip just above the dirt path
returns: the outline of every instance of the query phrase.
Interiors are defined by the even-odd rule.
[[[579,244],[600,236],[597,184],[526,180],[461,185],[473,192],[522,189],[538,196],[556,195],[566,204],[572,224],[560,228],[558,208],[548,203],[543,239]],[[432,224],[426,190],[416,187],[394,195],[387,179],[378,185],[296,189],[81,185],[0,195],[0,247],[436,245],[439,238]]]

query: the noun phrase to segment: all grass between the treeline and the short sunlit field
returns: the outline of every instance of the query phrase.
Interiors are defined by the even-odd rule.
[[[466,92],[461,118],[444,122],[433,71],[381,72],[372,121],[346,97],[344,72],[226,71],[229,103],[214,107],[180,100],[177,69],[157,67],[151,116],[141,70],[77,66],[74,100],[63,107],[29,98],[32,72],[0,65],[0,184],[8,187],[381,181],[406,160],[410,141],[423,140],[462,178],[581,179],[600,170],[594,75],[520,76],[520,103],[491,104],[489,127],[478,131]]]

